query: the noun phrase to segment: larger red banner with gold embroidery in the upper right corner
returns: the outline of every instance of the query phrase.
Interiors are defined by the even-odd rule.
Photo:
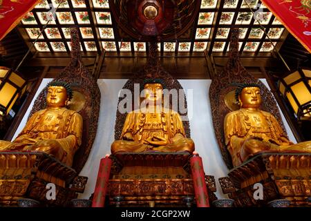
[[[311,0],[262,0],[289,32],[311,52]]]

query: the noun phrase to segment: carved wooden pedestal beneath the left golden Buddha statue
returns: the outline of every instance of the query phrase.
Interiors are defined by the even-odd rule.
[[[17,206],[20,198],[38,200],[44,205],[66,206],[83,193],[87,177],[54,157],[41,152],[0,152],[0,204]],[[56,199],[48,200],[48,183],[55,184]]]

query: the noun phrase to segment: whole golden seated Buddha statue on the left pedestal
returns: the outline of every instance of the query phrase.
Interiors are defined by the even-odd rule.
[[[46,95],[47,108],[34,113],[13,142],[0,141],[0,151],[43,151],[71,166],[82,143],[82,116],[68,110],[73,96],[68,84],[51,82]]]

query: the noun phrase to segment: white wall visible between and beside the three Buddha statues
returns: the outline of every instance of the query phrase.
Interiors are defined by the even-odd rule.
[[[51,79],[44,79],[42,81],[37,95],[39,92],[48,84]],[[267,82],[263,79],[263,83],[267,86]],[[82,169],[80,175],[88,177],[88,183],[86,184],[86,189],[83,194],[79,195],[79,198],[89,198],[91,193],[95,189],[95,182],[97,178],[97,171],[100,164],[100,159],[104,157],[107,153],[110,153],[111,143],[114,140],[114,127],[115,127],[115,114],[118,102],[119,90],[124,86],[126,79],[99,79],[98,86],[102,93],[102,99],[100,103],[100,118],[98,122],[97,135],[93,148],[88,157],[84,168]],[[225,162],[221,157],[218,144],[216,142],[216,137],[214,134],[213,122],[211,119],[211,106],[209,103],[209,86],[211,80],[200,79],[200,80],[180,80],[180,84],[186,90],[192,89],[193,91],[193,116],[190,119],[191,128],[191,138],[196,144],[196,151],[200,154],[203,159],[203,165],[205,173],[208,175],[214,175],[217,184],[217,197],[226,198],[223,195],[219,183],[218,177],[223,177],[227,175],[228,169],[225,166]],[[36,95],[36,97],[37,97]],[[188,106],[190,97],[187,97]],[[30,108],[26,112],[25,117],[15,137],[22,130],[23,126],[26,124],[28,114],[30,113]],[[285,128],[288,131],[290,140],[295,141],[294,135],[290,131],[290,128],[285,122],[285,118],[282,115],[283,122],[285,123]]]

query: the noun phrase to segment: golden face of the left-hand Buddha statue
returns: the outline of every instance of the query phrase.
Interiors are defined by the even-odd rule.
[[[63,86],[49,86],[48,94],[46,95],[46,103],[50,107],[66,106],[68,95],[66,88]]]

